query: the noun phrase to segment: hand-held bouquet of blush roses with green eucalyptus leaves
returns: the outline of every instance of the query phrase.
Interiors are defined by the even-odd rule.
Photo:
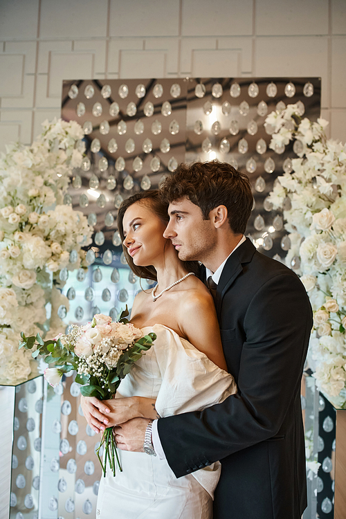
[[[121,379],[156,339],[153,333],[142,336],[140,329],[127,320],[128,315],[126,309],[118,322],[112,322],[109,316],[98,313],[87,325],[72,325],[68,334],[59,334],[46,341],[39,334],[26,337],[21,332],[19,348],[33,349],[34,358],[42,355],[46,363],[55,365],[44,371],[46,381],[53,387],[60,383],[64,373],[75,370],[75,381],[83,384],[80,392],[84,397],[111,399],[115,397]],[[100,457],[103,445],[104,464]],[[114,457],[121,471],[111,427],[104,430],[97,455],[104,476],[107,461],[115,475]]]

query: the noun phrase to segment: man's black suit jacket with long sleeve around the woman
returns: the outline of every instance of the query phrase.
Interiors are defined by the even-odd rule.
[[[201,412],[159,419],[167,461],[181,477],[221,460],[214,519],[300,519],[309,298],[293,271],[246,239],[226,262],[215,304],[238,392]]]

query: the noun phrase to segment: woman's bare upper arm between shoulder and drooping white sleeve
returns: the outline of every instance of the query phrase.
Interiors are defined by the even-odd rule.
[[[179,327],[194,347],[227,371],[217,313],[209,293],[196,291],[184,300],[179,308]]]

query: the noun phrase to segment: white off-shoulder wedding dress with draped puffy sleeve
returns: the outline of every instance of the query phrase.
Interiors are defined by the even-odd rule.
[[[163,325],[154,331],[154,345],[120,383],[122,397],[156,399],[161,417],[202,410],[236,392],[233,376],[217,367],[188,340]],[[119,450],[122,472],[107,467],[101,477],[97,519],[211,519],[212,498],[221,464],[175,477],[165,460]],[[179,456],[179,452],[176,453]]]

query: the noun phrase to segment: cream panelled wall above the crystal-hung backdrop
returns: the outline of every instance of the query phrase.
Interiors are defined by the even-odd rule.
[[[346,141],[346,0],[0,0],[0,149],[60,115],[63,79],[318,76]]]

